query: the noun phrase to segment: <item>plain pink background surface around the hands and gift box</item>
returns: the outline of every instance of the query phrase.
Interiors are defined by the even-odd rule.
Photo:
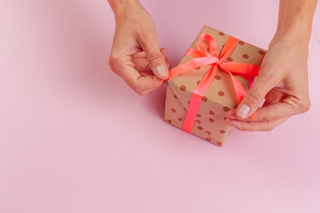
[[[278,0],[147,1],[176,65],[203,25],[267,49]],[[165,87],[140,97],[107,64],[106,0],[3,0],[0,212],[320,212],[320,11],[311,110],[223,148],[163,121]]]

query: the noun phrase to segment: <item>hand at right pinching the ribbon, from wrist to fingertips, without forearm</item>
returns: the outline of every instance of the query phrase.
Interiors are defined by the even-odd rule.
[[[226,122],[239,130],[269,131],[291,115],[310,109],[308,41],[304,35],[276,34],[262,61],[259,76]],[[265,99],[262,107],[258,108]],[[255,113],[257,121],[250,119]]]

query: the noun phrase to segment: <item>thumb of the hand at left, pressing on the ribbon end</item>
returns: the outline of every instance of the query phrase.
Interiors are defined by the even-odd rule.
[[[168,66],[163,54],[159,50],[156,35],[153,38],[142,39],[140,45],[146,53],[152,73],[159,79],[167,78],[169,75]]]

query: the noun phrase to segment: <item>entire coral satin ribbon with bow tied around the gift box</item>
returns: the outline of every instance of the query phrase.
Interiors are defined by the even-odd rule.
[[[207,42],[209,50],[205,50],[201,46],[200,42],[202,40]],[[232,73],[235,73],[247,79],[250,82],[249,88],[252,87],[254,77],[258,76],[259,66],[246,63],[229,62],[226,60],[227,57],[235,49],[235,46],[237,45],[238,41],[239,39],[230,36],[224,44],[220,56],[218,56],[217,43],[214,40],[214,38],[209,34],[201,34],[197,40],[198,49],[190,48],[185,54],[192,56],[194,59],[191,59],[183,64],[180,64],[179,66],[172,68],[169,72],[169,76],[166,79],[163,79],[164,81],[169,78],[179,76],[202,65],[212,65],[212,67],[208,70],[207,73],[205,73],[205,75],[202,77],[199,84],[192,93],[185,121],[182,125],[182,130],[191,132],[198,109],[200,107],[202,97],[204,96],[205,91],[207,91],[212,81],[214,80],[218,67],[220,67],[224,72],[230,75],[239,104],[242,101],[243,97],[246,95],[246,91],[243,88],[242,84],[238,81],[236,77],[234,77]],[[250,117],[256,120],[254,114]]]

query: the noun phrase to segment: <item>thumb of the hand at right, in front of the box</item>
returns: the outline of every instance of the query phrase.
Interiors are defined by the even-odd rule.
[[[273,79],[265,75],[257,78],[254,86],[247,92],[237,108],[239,119],[247,119],[258,109],[266,94],[275,86],[276,83]]]

